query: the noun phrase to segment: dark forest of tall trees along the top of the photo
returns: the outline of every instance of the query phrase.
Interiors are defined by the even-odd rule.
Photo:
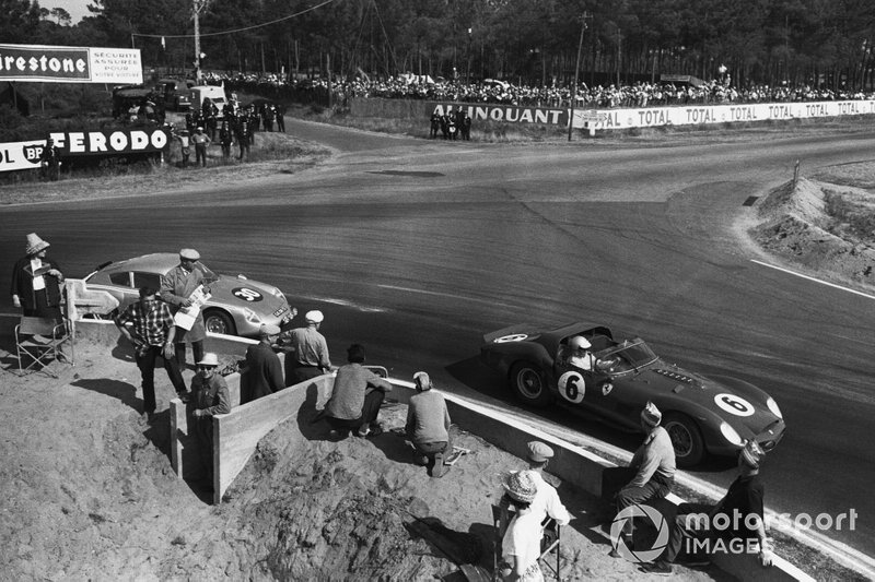
[[[77,24],[0,0],[0,31],[5,43],[135,46],[148,67],[191,70],[196,9],[205,70],[567,85],[582,39],[583,81],[711,80],[723,66],[736,86],[875,84],[872,0],[92,0]]]

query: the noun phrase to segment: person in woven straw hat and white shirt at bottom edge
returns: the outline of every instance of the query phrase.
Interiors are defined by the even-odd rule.
[[[501,503],[514,509],[514,516],[501,539],[499,570],[502,580],[542,581],[538,565],[541,525],[538,514],[532,511],[538,492],[535,476],[530,471],[511,473],[502,485],[505,494]]]

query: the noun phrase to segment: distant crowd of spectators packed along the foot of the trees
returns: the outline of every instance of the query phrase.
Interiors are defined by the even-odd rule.
[[[300,103],[322,103],[328,97],[329,83],[325,79],[285,81],[277,74],[208,73],[207,82],[224,83],[231,91],[246,91],[275,98],[290,98]],[[331,98],[345,104],[351,97],[382,97],[387,99],[427,99],[456,103],[490,103],[516,106],[568,107],[571,88],[559,86],[514,85],[503,81],[487,80],[478,83],[463,81],[433,81],[424,75],[401,75],[387,80],[335,80],[330,84]],[[684,105],[721,105],[750,103],[793,103],[824,100],[860,100],[875,98],[875,93],[863,91],[836,91],[810,85],[775,86],[755,85],[736,87],[728,81],[692,83],[634,83],[632,85],[579,85],[575,107],[662,107]]]

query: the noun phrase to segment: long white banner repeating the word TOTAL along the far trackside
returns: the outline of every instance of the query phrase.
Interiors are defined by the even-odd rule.
[[[644,109],[580,109],[573,127],[595,130],[653,128],[768,121],[771,119],[810,119],[875,114],[875,100],[757,103],[746,105],[700,105],[689,107],[651,107]]]

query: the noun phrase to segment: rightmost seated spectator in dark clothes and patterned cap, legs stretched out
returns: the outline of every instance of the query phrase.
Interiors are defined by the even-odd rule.
[[[730,541],[743,539],[743,547],[746,550],[758,550],[762,566],[771,566],[773,556],[771,543],[766,537],[762,507],[766,488],[759,478],[759,467],[763,456],[762,448],[756,441],[747,441],[738,454],[738,476],[732,482],[723,499],[716,504],[678,506],[677,518],[672,524],[665,551],[654,563],[645,565],[641,569],[648,573],[670,575],[672,563],[678,554],[687,549],[701,548],[701,541],[704,539],[710,539],[714,544],[718,539],[723,539],[725,547],[728,547],[726,543]],[[728,527],[724,524],[728,524]],[[686,548],[682,544],[685,538],[688,539]],[[689,541],[692,539],[700,542],[691,544]],[[688,557],[690,558],[688,563],[693,563],[696,556]]]

